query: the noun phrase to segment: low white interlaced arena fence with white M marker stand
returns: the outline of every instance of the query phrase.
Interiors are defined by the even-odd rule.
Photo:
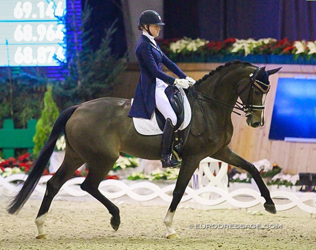
[[[227,184],[227,163],[222,162],[219,167],[219,161],[207,158],[200,163],[193,175],[190,185],[186,188],[185,194],[181,202],[200,204],[203,207],[221,208],[236,207],[236,208],[251,208],[258,204],[264,203],[264,198],[260,193],[250,188],[240,188],[228,192]],[[216,176],[213,173],[216,173]],[[52,176],[43,176],[38,185],[35,187],[33,196],[44,196],[46,191],[46,182]],[[3,178],[0,176],[0,196],[14,196],[17,191],[17,185],[13,184],[16,181],[22,181],[27,178],[24,174],[15,174]],[[84,177],[77,177],[68,180],[61,188],[57,196],[87,196],[88,193],[82,191],[79,185],[84,181]],[[110,199],[116,199],[123,196],[136,201],[150,201],[155,198],[160,198],[168,203],[172,200],[172,191],[175,188],[175,183],[165,187],[159,187],[153,182],[143,181],[126,181],[107,179],[101,182],[100,191]],[[244,196],[242,200],[235,197]],[[285,204],[276,202],[277,211],[289,210],[298,207],[301,210],[316,214],[316,194],[315,193],[293,193],[285,191],[271,192],[272,198],[279,198],[286,201]],[[226,204],[226,205],[224,205]],[[224,205],[224,206],[223,206]],[[204,207],[205,208],[205,207]]]

